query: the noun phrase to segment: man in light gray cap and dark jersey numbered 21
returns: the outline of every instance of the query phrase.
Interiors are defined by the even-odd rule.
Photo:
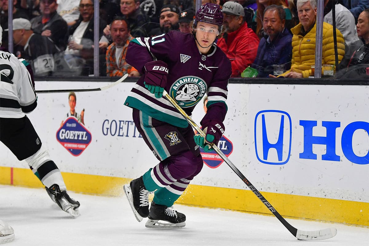
[[[54,71],[53,55],[57,50],[49,38],[31,30],[29,20],[13,19],[13,42],[21,48],[16,55],[30,63],[34,75],[52,75]]]

